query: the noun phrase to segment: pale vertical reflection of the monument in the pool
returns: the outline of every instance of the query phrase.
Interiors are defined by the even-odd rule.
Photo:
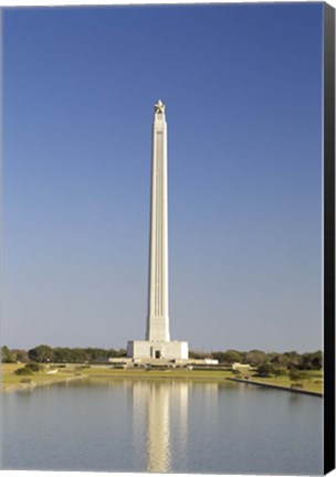
[[[187,458],[189,386],[175,381],[134,382],[134,437],[137,442],[145,438],[144,470],[167,473],[172,462]],[[174,445],[178,455],[174,455]]]

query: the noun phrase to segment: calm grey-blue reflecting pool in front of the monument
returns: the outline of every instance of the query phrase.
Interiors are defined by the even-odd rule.
[[[322,471],[315,396],[238,383],[91,379],[2,394],[2,468]]]

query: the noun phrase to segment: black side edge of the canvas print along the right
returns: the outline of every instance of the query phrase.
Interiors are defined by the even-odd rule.
[[[324,3],[324,473],[335,468],[335,9]]]

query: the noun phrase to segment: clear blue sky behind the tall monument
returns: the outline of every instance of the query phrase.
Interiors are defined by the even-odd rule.
[[[322,348],[322,3],[7,9],[2,342],[145,336],[154,103],[170,335]]]

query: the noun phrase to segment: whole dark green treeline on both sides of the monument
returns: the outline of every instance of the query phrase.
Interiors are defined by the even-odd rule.
[[[125,349],[102,349],[102,348],[51,348],[48,344],[40,344],[28,351],[21,349],[1,348],[2,362],[98,362],[108,358],[126,357]],[[190,359],[218,359],[222,365],[231,367],[234,362],[250,364],[253,368],[267,365],[269,370],[321,370],[323,368],[323,352],[305,352],[300,354],[296,351],[264,352],[261,350],[251,351],[214,351],[210,353],[190,351]],[[270,368],[271,367],[271,368]]]

